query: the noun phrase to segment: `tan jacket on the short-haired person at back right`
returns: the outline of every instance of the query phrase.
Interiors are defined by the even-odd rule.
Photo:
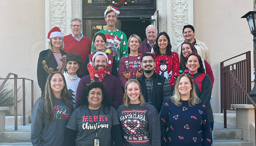
[[[178,53],[180,59],[181,59],[181,44],[178,44],[172,49],[173,52]],[[204,58],[211,65],[210,51],[208,47],[204,43],[200,42],[199,40],[196,40],[195,47],[197,50],[197,54],[200,55],[201,58]]]

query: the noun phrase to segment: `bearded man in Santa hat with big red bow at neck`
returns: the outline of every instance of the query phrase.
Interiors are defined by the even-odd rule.
[[[76,90],[76,102],[79,103],[81,97],[83,96],[83,90],[86,89],[91,82],[102,82],[105,84],[105,92],[109,98],[112,99],[117,109],[120,105],[122,105],[124,95],[121,84],[117,77],[108,74],[106,71],[105,67],[107,66],[108,56],[105,54],[105,52],[98,51],[94,54],[92,60],[92,66],[87,65],[89,74],[82,77],[78,84]]]

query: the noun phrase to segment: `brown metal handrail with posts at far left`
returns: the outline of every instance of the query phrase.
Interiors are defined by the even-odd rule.
[[[10,78],[10,76],[15,75],[14,78]],[[17,79],[22,79],[22,93],[23,93],[23,126],[26,126],[26,102],[25,102],[25,80],[30,80],[27,78],[18,78],[18,75],[14,73],[9,73],[6,78],[2,78],[0,80],[4,80],[4,82],[0,86],[0,91],[4,88],[4,84],[7,82],[8,79],[14,79],[14,129],[18,130],[18,115],[17,115]],[[34,80],[31,81],[31,110],[34,106]]]

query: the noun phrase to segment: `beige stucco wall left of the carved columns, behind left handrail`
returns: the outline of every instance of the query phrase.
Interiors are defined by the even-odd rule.
[[[41,91],[37,62],[40,51],[45,49],[45,1],[1,0],[0,20],[0,77],[5,78],[11,72],[34,80],[34,99],[38,99]],[[8,82],[13,84],[13,80]],[[22,85],[22,80],[18,85]],[[27,115],[31,113],[30,88],[30,82],[26,81]],[[22,89],[18,96],[22,98]],[[22,102],[18,107],[22,107]],[[20,108],[18,114],[22,115]]]

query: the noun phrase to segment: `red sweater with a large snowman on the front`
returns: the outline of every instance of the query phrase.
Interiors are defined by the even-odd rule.
[[[155,53],[152,53],[154,55]],[[175,52],[172,52],[172,55],[167,56],[166,54],[161,54],[155,57],[154,60],[156,66],[154,71],[161,76],[166,77],[169,80],[171,88],[173,89],[173,85],[175,83],[174,74],[179,73],[180,69],[180,60],[179,55]]]

